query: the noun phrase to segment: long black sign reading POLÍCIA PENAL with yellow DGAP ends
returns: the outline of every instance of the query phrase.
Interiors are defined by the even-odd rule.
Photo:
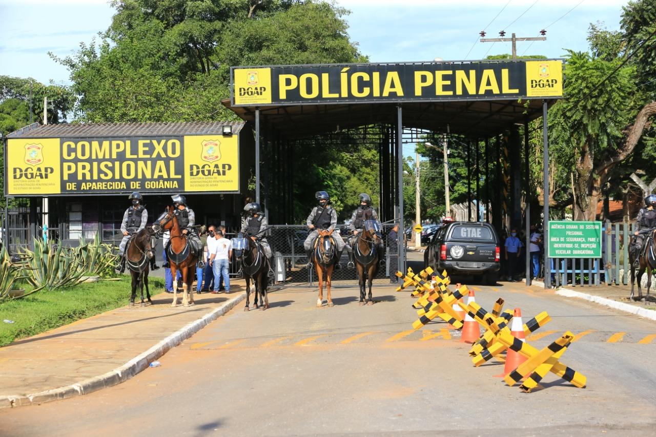
[[[234,106],[562,97],[562,61],[234,67]]]

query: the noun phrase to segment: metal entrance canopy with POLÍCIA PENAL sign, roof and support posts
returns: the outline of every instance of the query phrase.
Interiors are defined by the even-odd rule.
[[[525,127],[527,143],[529,121],[543,117],[546,174],[546,113],[548,106],[562,98],[562,79],[562,60],[245,66],[231,68],[232,94],[222,104],[255,124],[258,202],[260,139],[264,132],[293,140],[377,123],[390,125],[394,131],[390,140],[396,148],[392,148],[395,218],[403,229],[403,159],[398,157],[403,156],[404,128],[448,131],[472,141],[484,139],[487,150],[489,138],[513,129],[516,132],[518,125]],[[548,178],[544,178],[545,198],[548,192]],[[545,232],[548,217],[545,199]],[[526,220],[527,232],[528,228]],[[401,232],[398,243],[402,248]],[[528,259],[527,253],[527,264]],[[403,249],[398,254],[398,266],[405,266]],[[548,268],[545,262],[546,286]],[[529,280],[527,272],[527,283]]]

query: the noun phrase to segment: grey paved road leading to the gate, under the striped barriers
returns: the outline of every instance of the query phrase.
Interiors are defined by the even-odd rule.
[[[484,308],[503,297],[525,320],[546,310],[553,320],[529,339],[535,346],[577,334],[562,362],[588,387],[552,375],[531,394],[504,385],[493,376],[502,364],[473,367],[445,323],[411,331],[412,299],[391,287],[375,289],[373,306],[337,289],[333,308],[287,289],[270,295],[270,310],[233,310],[127,383],[0,411],[0,435],[655,432],[655,322],[523,284],[474,287]]]

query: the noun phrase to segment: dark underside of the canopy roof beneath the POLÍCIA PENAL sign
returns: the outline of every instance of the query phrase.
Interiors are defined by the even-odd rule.
[[[546,98],[550,106],[556,99]],[[440,100],[403,102],[403,126],[434,132],[449,131],[471,138],[502,133],[516,123],[542,116],[543,99]],[[241,119],[255,121],[256,106],[222,104]],[[260,106],[260,120],[287,138],[318,135],[374,123],[396,123],[395,103],[341,103],[296,106]]]

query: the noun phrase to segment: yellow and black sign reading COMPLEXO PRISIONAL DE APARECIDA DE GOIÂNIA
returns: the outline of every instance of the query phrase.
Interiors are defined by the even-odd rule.
[[[239,192],[237,135],[10,138],[9,196]]]

